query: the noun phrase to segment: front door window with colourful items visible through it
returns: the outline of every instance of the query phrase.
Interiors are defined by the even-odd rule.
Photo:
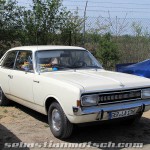
[[[16,70],[33,72],[32,52],[20,51],[15,64]]]

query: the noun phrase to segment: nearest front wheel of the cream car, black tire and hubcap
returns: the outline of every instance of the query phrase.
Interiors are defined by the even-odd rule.
[[[57,118],[54,116],[56,116]],[[55,126],[55,121],[59,122],[57,124],[59,127],[56,127],[57,125]],[[48,122],[51,132],[56,138],[65,139],[71,136],[73,131],[73,124],[69,122],[64,111],[57,102],[52,103],[49,107]]]

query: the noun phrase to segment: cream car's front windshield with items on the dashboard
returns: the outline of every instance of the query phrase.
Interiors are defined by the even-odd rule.
[[[60,71],[65,69],[101,69],[102,66],[86,50],[45,50],[36,52],[38,72]]]

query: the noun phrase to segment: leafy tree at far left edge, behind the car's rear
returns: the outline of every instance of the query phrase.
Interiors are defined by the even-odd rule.
[[[0,11],[0,57],[5,50],[19,40],[21,30],[22,8],[17,6],[17,1],[0,1],[4,6]]]

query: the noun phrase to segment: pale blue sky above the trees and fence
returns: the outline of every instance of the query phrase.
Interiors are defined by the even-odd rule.
[[[78,8],[79,16],[83,17],[86,2],[86,30],[111,23],[113,33],[122,27],[121,34],[134,34],[132,27],[136,23],[150,33],[150,0],[63,0],[63,6],[72,12]],[[32,0],[18,0],[18,3],[31,8]]]

